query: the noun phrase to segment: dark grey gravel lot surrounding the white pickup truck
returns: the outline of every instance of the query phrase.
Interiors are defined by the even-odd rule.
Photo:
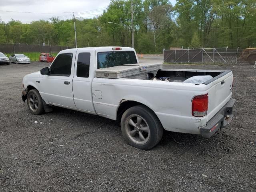
[[[208,139],[165,132],[149,151],[128,146],[119,122],[62,108],[30,114],[21,100],[22,77],[44,66],[0,66],[1,192],[256,191],[252,66],[165,65],[233,70],[235,118]]]

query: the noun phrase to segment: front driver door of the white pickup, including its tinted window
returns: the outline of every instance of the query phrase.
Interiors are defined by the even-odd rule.
[[[42,98],[49,104],[76,108],[73,99],[72,79],[76,50],[58,54],[50,66],[50,74],[42,77]]]

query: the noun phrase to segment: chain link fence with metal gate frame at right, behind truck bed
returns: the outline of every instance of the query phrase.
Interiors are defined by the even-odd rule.
[[[254,64],[256,48],[197,48],[163,50],[164,62]]]

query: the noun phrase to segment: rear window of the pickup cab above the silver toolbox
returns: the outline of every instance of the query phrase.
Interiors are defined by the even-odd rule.
[[[97,55],[98,69],[135,63],[137,59],[134,51],[99,52]]]

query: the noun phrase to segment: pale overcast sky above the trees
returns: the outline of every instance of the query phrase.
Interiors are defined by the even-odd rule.
[[[176,0],[169,1],[173,6],[176,3]],[[53,16],[70,19],[72,12],[76,17],[93,18],[102,14],[109,3],[110,0],[0,0],[0,18],[4,22],[14,19],[30,23],[50,20]]]

